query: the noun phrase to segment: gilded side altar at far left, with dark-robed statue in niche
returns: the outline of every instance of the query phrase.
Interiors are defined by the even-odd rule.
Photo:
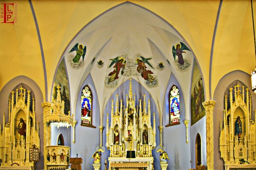
[[[33,169],[29,161],[29,148],[35,145],[40,150],[39,123],[35,118],[35,98],[23,87],[12,91],[9,99],[8,123],[3,114],[3,129],[0,125],[1,169]]]

